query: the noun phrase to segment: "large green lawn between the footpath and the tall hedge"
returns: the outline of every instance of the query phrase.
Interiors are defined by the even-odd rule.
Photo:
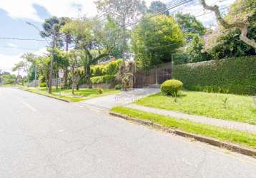
[[[223,102],[225,98],[227,98],[226,108]],[[135,103],[152,108],[256,125],[256,105],[252,101],[252,96],[181,91],[177,102],[174,102],[172,97],[157,93],[137,100]]]

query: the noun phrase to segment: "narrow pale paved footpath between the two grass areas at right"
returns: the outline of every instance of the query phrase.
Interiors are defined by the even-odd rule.
[[[256,134],[256,125],[250,125],[242,122],[235,122],[231,120],[221,120],[212,117],[205,117],[200,115],[188,115],[182,112],[174,112],[172,110],[162,110],[157,108],[149,108],[142,105],[128,104],[127,108],[142,110],[145,112],[152,112],[159,115],[167,115],[170,117],[175,117],[177,119],[191,120],[193,122],[198,122],[207,125],[215,125],[217,127],[225,127],[232,130],[240,130],[245,132],[252,132]]]

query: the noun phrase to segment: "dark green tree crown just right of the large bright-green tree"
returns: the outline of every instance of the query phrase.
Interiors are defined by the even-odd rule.
[[[195,16],[190,14],[181,14],[177,13],[175,15],[175,21],[179,24],[179,27],[182,29],[187,42],[191,41],[193,36],[203,36],[205,35],[206,28],[200,22],[197,21]]]

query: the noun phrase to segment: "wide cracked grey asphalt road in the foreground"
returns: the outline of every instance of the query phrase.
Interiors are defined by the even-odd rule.
[[[256,177],[256,159],[0,88],[0,177]]]

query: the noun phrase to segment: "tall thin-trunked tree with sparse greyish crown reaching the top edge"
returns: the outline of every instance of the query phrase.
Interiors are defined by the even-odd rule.
[[[117,19],[122,28],[122,58],[127,52],[127,24],[147,9],[144,0],[97,0],[97,9]]]

